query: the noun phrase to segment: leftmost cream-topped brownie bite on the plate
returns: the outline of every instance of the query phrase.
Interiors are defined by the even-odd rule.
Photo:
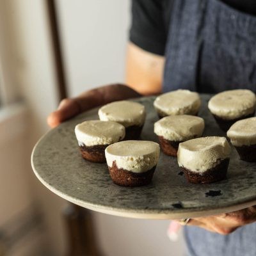
[[[125,127],[116,122],[91,120],[77,124],[75,133],[83,158],[104,163],[106,147],[124,139]]]

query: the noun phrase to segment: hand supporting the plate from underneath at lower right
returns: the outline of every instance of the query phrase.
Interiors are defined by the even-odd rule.
[[[214,216],[195,218],[187,225],[205,228],[211,232],[228,235],[239,227],[256,221],[256,205],[235,212],[228,212]]]

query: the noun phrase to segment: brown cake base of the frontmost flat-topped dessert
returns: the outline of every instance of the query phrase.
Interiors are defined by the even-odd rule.
[[[116,166],[116,161],[113,161],[112,167],[108,166],[109,174],[113,182],[119,186],[138,187],[148,185],[154,175],[156,166],[143,173],[134,173]]]

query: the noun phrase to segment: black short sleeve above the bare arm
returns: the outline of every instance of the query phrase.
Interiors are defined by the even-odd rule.
[[[145,51],[164,55],[167,33],[163,1],[132,0],[129,39]]]

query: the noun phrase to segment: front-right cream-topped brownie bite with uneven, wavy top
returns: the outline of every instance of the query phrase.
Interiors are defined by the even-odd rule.
[[[188,182],[216,182],[227,177],[230,145],[225,137],[188,140],[180,143],[177,159]]]

